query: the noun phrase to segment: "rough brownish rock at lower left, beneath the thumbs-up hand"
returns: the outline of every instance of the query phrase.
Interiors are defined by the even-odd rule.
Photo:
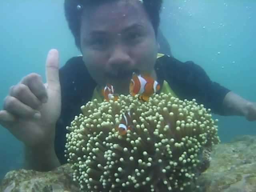
[[[71,164],[65,164],[50,172],[13,170],[8,172],[0,192],[79,192],[73,182]]]

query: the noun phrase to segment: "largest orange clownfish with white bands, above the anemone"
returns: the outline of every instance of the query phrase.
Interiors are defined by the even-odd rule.
[[[147,101],[150,95],[160,90],[160,84],[148,72],[142,75],[133,73],[129,90],[132,96],[139,94],[139,99]]]

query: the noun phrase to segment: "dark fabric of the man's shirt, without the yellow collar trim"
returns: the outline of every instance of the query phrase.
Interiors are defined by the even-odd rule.
[[[196,99],[199,104],[211,108],[216,114],[223,114],[222,102],[230,91],[212,82],[204,70],[192,61],[180,62],[173,57],[162,56],[156,60],[157,80],[162,85],[166,80],[180,99]],[[90,76],[81,56],[71,58],[60,69],[62,111],[56,124],[55,151],[61,162],[66,143],[66,126],[81,113],[80,106],[91,100],[96,82]]]

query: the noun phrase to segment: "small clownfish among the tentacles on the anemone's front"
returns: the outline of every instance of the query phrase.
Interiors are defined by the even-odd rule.
[[[131,113],[133,111],[133,109],[131,109],[130,112],[126,111],[122,116],[120,124],[118,124],[115,128],[121,136],[126,134],[127,130],[131,130],[132,128]]]

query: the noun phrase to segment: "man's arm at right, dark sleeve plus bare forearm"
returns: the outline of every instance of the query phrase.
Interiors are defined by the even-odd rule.
[[[245,116],[247,120],[256,120],[256,103],[245,100],[234,92],[212,82],[206,72],[192,61],[179,60],[163,56],[158,59],[162,64],[162,74],[180,99],[192,100],[204,104],[213,113],[223,116]]]

